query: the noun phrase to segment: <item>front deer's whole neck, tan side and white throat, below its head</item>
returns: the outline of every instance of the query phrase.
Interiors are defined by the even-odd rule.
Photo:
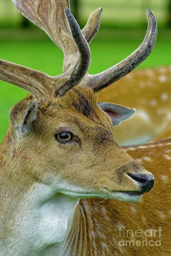
[[[0,254],[86,255],[92,248],[86,200],[79,203],[79,198],[59,194],[37,180],[27,159],[16,161],[22,152],[5,145],[0,147]]]

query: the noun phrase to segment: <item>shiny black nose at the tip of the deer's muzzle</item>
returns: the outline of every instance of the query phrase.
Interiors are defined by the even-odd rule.
[[[139,183],[142,193],[149,192],[154,187],[154,176],[152,173],[149,176],[137,173],[128,173],[128,175]]]

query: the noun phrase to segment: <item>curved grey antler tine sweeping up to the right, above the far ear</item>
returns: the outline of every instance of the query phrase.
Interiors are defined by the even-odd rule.
[[[127,58],[113,67],[96,75],[85,76],[82,84],[87,84],[87,86],[93,88],[94,92],[99,92],[131,72],[149,56],[157,38],[157,22],[150,9],[147,9],[146,15],[148,28],[142,44]]]

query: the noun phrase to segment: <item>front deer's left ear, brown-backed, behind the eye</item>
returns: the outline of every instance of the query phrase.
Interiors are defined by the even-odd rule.
[[[21,101],[10,109],[10,123],[19,136],[30,133],[33,121],[36,119],[37,108],[37,101],[32,100],[31,102]]]

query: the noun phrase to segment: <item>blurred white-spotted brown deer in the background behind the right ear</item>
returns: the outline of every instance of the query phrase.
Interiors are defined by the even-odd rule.
[[[106,100],[127,107],[134,104],[136,108],[129,122],[113,130],[115,140],[121,146],[171,136],[170,81],[170,66],[145,68],[131,72],[99,92],[99,101]]]

